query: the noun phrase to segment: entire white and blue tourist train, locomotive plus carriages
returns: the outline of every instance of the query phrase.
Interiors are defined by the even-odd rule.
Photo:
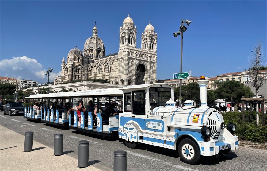
[[[177,150],[181,161],[196,164],[201,156],[218,156],[238,149],[236,125],[225,124],[222,114],[207,106],[207,83],[204,76],[197,82],[200,87],[200,107],[190,100],[178,107],[174,101],[174,88],[163,83],[132,85],[123,88],[86,90],[30,95],[25,99],[56,102],[75,106],[78,100],[84,105],[92,100],[97,104],[97,117],[93,112],[82,111],[81,122],[76,111],[44,108],[34,112],[25,104],[24,117],[49,124],[68,126],[102,136],[118,136],[129,148],[139,143]],[[115,101],[120,113],[105,117],[99,113],[99,103]],[[181,106],[181,105],[180,105]]]

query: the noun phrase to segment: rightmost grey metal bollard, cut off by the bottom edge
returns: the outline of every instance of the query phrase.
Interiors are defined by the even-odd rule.
[[[126,171],[127,169],[127,152],[126,151],[114,151],[114,171]]]

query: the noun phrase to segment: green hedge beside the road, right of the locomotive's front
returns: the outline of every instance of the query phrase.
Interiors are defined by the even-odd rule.
[[[245,112],[245,122],[242,122],[242,113],[227,112],[223,113],[224,123],[227,125],[230,121],[236,124],[235,131],[238,139],[252,142],[267,142],[267,126],[261,124],[261,114],[259,114],[259,125],[256,125],[256,112],[252,113],[252,123],[249,123],[250,112]],[[267,123],[267,114],[265,114],[265,123]]]

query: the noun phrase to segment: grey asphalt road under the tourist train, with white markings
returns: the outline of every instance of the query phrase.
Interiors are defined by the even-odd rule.
[[[0,124],[20,134],[25,131],[34,132],[34,140],[53,146],[54,134],[63,134],[63,148],[78,154],[78,142],[89,140],[89,158],[100,164],[113,168],[113,152],[127,151],[127,170],[267,170],[267,151],[239,148],[232,154],[216,157],[202,157],[198,165],[189,165],[180,161],[175,150],[149,145],[139,145],[137,149],[129,149],[118,138],[102,138],[101,136],[82,133],[76,130],[59,129],[57,126],[32,122],[20,116],[3,115],[0,112]],[[73,152],[72,152],[73,151]]]

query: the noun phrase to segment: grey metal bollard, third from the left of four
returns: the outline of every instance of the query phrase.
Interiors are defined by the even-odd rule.
[[[89,141],[79,141],[78,167],[88,167]]]

